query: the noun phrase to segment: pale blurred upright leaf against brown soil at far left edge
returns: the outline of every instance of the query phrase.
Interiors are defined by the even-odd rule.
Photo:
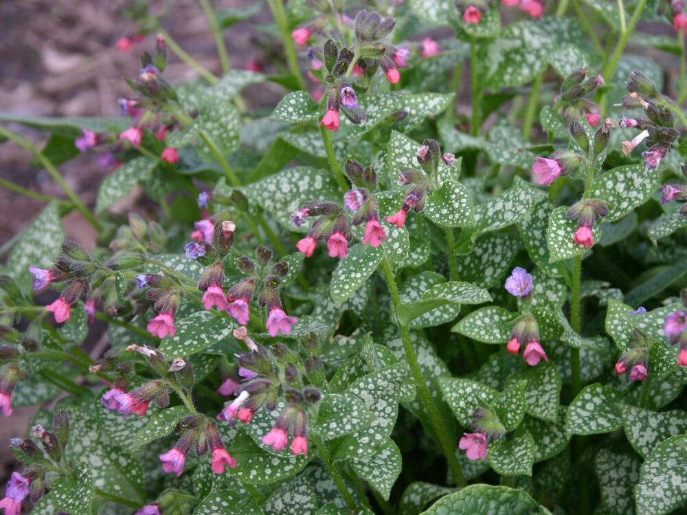
[[[5,273],[12,277],[24,293],[32,291],[33,275],[29,266],[52,268],[65,240],[60,212],[55,203],[49,203],[41,214],[27,225],[17,238],[5,264]]]

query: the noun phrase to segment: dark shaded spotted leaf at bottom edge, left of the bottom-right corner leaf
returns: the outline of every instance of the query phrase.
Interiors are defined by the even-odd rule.
[[[594,460],[594,472],[601,490],[602,513],[633,514],[632,492],[640,478],[639,460],[634,456],[601,449]]]

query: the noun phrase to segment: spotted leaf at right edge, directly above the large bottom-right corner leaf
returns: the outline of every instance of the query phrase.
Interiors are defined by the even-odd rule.
[[[643,458],[664,439],[687,433],[687,413],[679,409],[657,413],[621,404],[620,414],[628,441]]]

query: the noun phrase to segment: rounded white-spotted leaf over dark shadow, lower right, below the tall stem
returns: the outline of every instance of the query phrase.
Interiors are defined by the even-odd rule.
[[[569,435],[611,433],[622,427],[618,404],[622,394],[611,387],[589,385],[570,403],[565,420]]]

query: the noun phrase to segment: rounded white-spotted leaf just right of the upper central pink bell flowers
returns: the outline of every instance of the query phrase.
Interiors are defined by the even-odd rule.
[[[445,181],[427,198],[423,213],[441,227],[466,227],[473,225],[475,203],[464,185]]]

